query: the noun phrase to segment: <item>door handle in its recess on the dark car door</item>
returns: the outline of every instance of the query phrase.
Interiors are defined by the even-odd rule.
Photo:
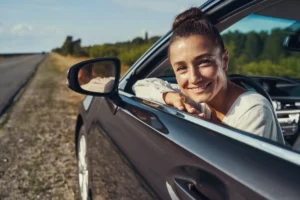
[[[224,200],[224,196],[211,185],[199,184],[190,178],[174,178],[176,191],[183,200]]]

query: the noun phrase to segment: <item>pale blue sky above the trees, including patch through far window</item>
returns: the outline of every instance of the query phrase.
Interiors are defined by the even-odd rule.
[[[67,35],[82,46],[164,35],[174,17],[205,0],[1,0],[0,53],[51,51]],[[259,22],[264,23],[259,23]],[[233,26],[240,31],[286,27],[283,21],[250,17]],[[290,22],[291,23],[291,22]]]

